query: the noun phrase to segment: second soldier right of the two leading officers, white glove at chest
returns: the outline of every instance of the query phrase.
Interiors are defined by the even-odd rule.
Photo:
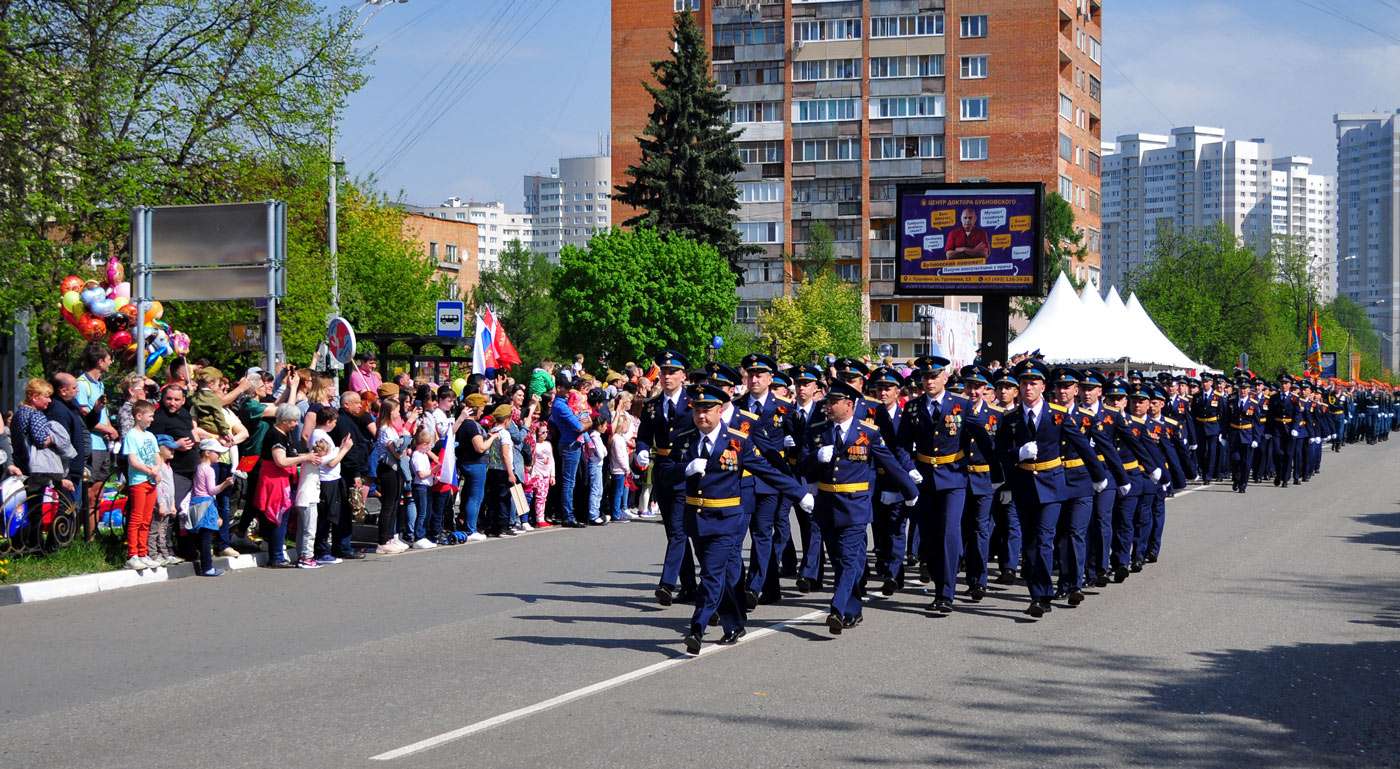
[[[1050,576],[1054,534],[1067,499],[1061,447],[1070,444],[1081,458],[1095,457],[1089,438],[1068,419],[1068,409],[1044,399],[1049,375],[1040,360],[1023,360],[1016,366],[1021,405],[1005,415],[997,429],[995,445],[1007,473],[1007,489],[1001,493],[1015,499],[1021,531],[1026,538],[1028,563],[1022,576],[1030,588],[1026,614],[1035,618],[1050,611],[1054,597]]]

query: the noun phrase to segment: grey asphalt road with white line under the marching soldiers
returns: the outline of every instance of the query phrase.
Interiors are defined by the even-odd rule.
[[[791,593],[693,660],[645,522],[4,607],[0,766],[1400,766],[1397,459],[1172,500],[1039,622],[906,593],[832,637]]]

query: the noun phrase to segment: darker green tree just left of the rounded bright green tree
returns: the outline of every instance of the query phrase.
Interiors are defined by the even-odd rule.
[[[556,269],[547,256],[512,240],[501,252],[500,266],[483,273],[472,294],[473,307],[489,304],[496,310],[524,367],[559,356],[559,314],[550,296]]]

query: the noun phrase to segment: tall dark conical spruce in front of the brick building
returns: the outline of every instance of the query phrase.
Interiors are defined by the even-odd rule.
[[[729,125],[729,102],[710,77],[704,32],[692,14],[676,14],[671,59],[651,64],[657,84],[644,83],[654,105],[641,161],[613,199],[640,213],[629,227],[650,227],[710,244],[738,272],[739,261],[760,249],[739,241],[738,188],[743,169]]]

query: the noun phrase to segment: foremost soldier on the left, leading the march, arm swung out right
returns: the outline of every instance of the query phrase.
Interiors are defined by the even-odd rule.
[[[729,396],[714,385],[693,385],[690,406],[693,427],[678,431],[683,478],[676,492],[683,499],[686,535],[700,560],[700,597],[690,616],[686,651],[700,653],[704,629],[715,615],[724,628],[720,643],[743,637],[743,600],[735,591],[734,569],[741,560],[743,522],[741,497],[745,476],[762,478],[780,493],[812,507],[812,496],[785,472],[763,458],[753,441],[731,430],[722,419]]]

